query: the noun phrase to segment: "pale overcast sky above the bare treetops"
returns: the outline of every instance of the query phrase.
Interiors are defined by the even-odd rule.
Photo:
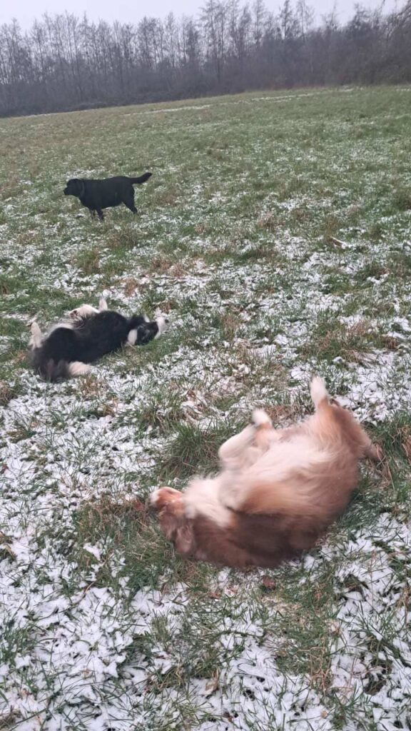
[[[331,12],[334,0],[308,0],[309,5],[314,9],[317,19]],[[124,23],[136,23],[148,15],[156,18],[165,18],[169,12],[175,15],[195,15],[203,6],[204,0],[150,0],[148,3],[139,3],[137,0],[11,0],[0,4],[0,23],[9,23],[12,18],[17,18],[23,28],[28,28],[35,18],[40,18],[44,12],[50,14],[56,12],[69,12],[75,15],[83,15],[84,12],[91,20],[121,20]],[[252,4],[252,0],[249,4]],[[265,5],[270,10],[278,10],[282,1],[265,0]],[[339,20],[347,20],[352,15],[355,0],[336,0],[336,10]],[[369,8],[380,6],[380,0],[363,0],[363,5]],[[396,7],[402,7],[404,1],[384,0],[383,8],[391,11]]]

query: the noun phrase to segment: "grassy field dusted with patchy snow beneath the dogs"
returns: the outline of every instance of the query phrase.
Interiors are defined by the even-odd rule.
[[[0,727],[411,727],[411,91],[243,96],[0,121]],[[67,178],[154,175],[93,221]],[[336,239],[336,240],[333,240]],[[146,348],[45,385],[28,325],[104,294]],[[276,571],[183,563],[155,487],[214,469],[317,372],[388,456]]]

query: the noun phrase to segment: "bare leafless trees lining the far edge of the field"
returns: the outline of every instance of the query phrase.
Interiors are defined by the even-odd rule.
[[[411,0],[391,15],[360,5],[320,25],[306,0],[206,0],[197,18],[91,23],[44,15],[0,26],[0,115],[292,88],[411,81]]]

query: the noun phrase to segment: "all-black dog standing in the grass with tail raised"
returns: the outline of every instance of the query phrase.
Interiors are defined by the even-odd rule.
[[[87,180],[86,178],[72,178],[67,181],[64,195],[75,195],[88,208],[91,216],[97,212],[100,221],[104,219],[102,209],[116,205],[127,205],[130,211],[137,213],[134,205],[134,188],[136,183],[145,183],[151,178],[151,173],[144,173],[140,178],[126,178],[118,175],[116,178],[103,180]]]

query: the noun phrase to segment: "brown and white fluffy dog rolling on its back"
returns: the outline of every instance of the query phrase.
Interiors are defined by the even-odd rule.
[[[263,411],[219,449],[216,477],[197,477],[184,493],[151,495],[165,536],[181,556],[246,568],[275,567],[316,542],[350,501],[358,461],[379,452],[350,412],[311,386],[315,413],[274,429]]]

